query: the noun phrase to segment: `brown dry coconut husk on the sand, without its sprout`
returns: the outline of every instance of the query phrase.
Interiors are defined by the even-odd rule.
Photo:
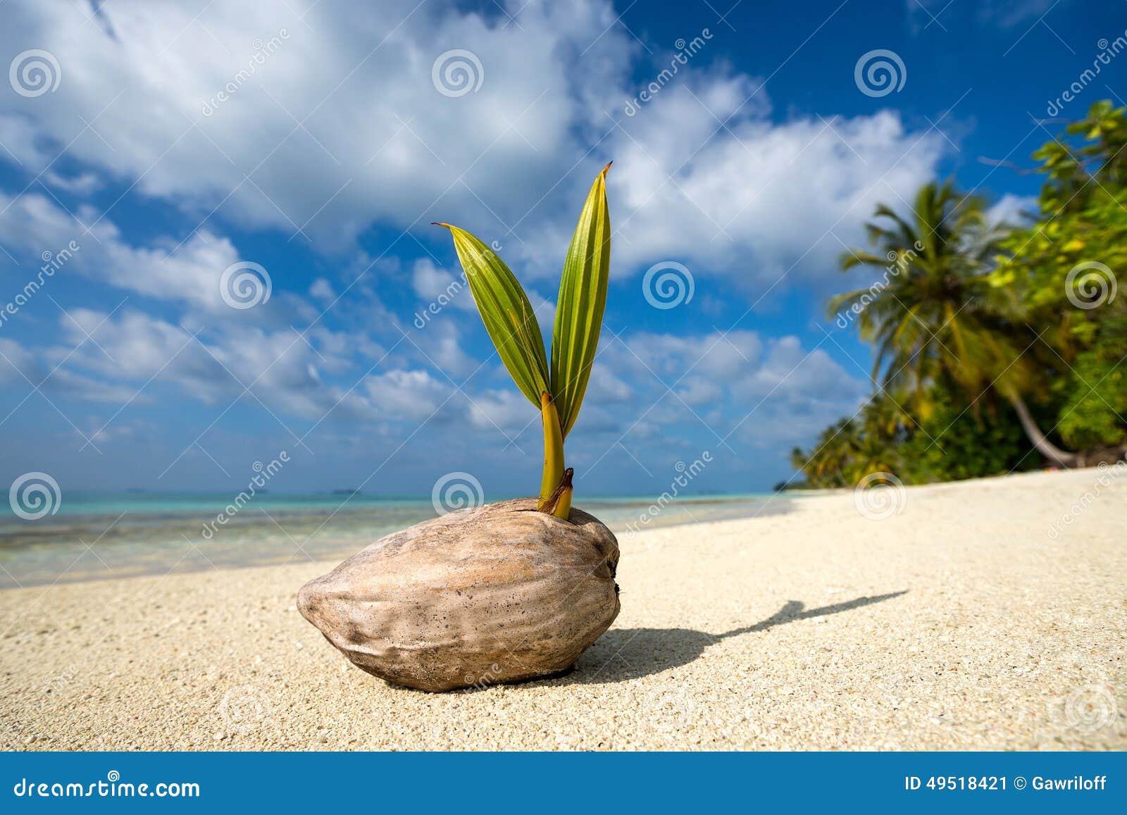
[[[307,583],[302,615],[357,667],[449,691],[569,668],[619,613],[619,546],[597,519],[518,498],[381,538]]]

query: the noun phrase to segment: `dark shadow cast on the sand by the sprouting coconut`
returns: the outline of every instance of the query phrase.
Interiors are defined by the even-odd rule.
[[[766,631],[775,626],[783,626],[810,617],[825,617],[826,614],[852,611],[862,605],[880,603],[906,593],[907,590],[891,594],[878,594],[875,597],[858,597],[844,603],[823,605],[820,609],[807,609],[805,603],[791,600],[765,620],[718,635],[694,631],[689,628],[611,629],[579,657],[575,670],[556,681],[564,684],[605,684],[649,676],[671,667],[687,665],[703,654],[708,646],[728,637]]]

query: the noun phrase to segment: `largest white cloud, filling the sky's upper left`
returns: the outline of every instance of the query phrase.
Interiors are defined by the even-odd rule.
[[[533,3],[520,25],[414,0],[303,11],[122,2],[100,10],[110,36],[79,6],[25,5],[7,12],[3,52],[35,42],[59,55],[63,79],[42,104],[2,104],[139,193],[204,213],[230,194],[229,216],[302,228],[325,248],[372,221],[425,223],[440,200],[447,214],[482,212],[478,224],[498,222],[477,196],[513,202],[514,216],[559,178],[557,157],[588,115],[576,88],[598,101],[591,89],[613,88],[631,52],[621,28],[606,30],[604,2]],[[580,81],[571,59],[587,47]],[[449,98],[432,85],[432,63],[452,48],[481,55],[478,92]]]

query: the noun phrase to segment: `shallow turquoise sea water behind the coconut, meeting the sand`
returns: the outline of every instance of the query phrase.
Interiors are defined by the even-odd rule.
[[[54,514],[0,515],[0,587],[142,574],[343,559],[389,532],[435,517],[431,498],[265,493],[228,523],[224,494],[68,493]],[[671,524],[784,512],[791,497],[678,497],[653,513],[654,497],[578,504],[616,534]],[[648,519],[642,522],[641,519]]]

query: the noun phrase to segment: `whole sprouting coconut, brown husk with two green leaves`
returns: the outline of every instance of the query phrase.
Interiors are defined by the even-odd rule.
[[[473,301],[517,388],[540,410],[535,498],[449,513],[381,538],[307,583],[298,608],[354,664],[445,691],[570,667],[619,613],[618,541],[571,508],[564,440],[587,389],[606,304],[606,170],[595,178],[564,262],[551,363],[532,305],[489,247],[447,223]]]

